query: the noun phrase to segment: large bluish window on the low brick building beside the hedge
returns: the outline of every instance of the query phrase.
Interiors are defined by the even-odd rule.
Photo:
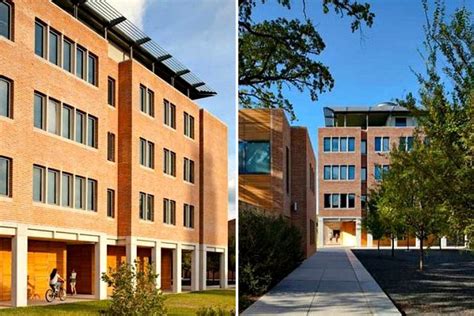
[[[270,173],[270,142],[244,141],[239,142],[239,173],[269,174]]]

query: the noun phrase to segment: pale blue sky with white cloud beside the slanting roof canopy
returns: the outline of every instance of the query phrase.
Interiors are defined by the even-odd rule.
[[[228,126],[229,217],[235,217],[236,6],[233,0],[107,0],[218,95],[197,100]]]

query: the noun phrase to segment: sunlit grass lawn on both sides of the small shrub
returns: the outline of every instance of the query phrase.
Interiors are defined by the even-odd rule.
[[[235,290],[210,290],[183,294],[166,294],[168,315],[195,315],[202,307],[221,307],[235,311]],[[107,308],[108,301],[65,303],[49,306],[34,306],[0,309],[0,315],[98,315]]]

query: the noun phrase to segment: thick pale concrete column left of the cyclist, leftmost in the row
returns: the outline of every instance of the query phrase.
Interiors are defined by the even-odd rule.
[[[28,303],[28,228],[18,225],[12,238],[12,305],[26,306]]]

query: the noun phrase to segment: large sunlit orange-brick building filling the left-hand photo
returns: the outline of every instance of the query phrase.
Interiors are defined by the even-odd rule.
[[[158,286],[227,286],[227,128],[215,92],[104,1],[0,0],[0,300],[43,299],[48,276],[155,263]]]

